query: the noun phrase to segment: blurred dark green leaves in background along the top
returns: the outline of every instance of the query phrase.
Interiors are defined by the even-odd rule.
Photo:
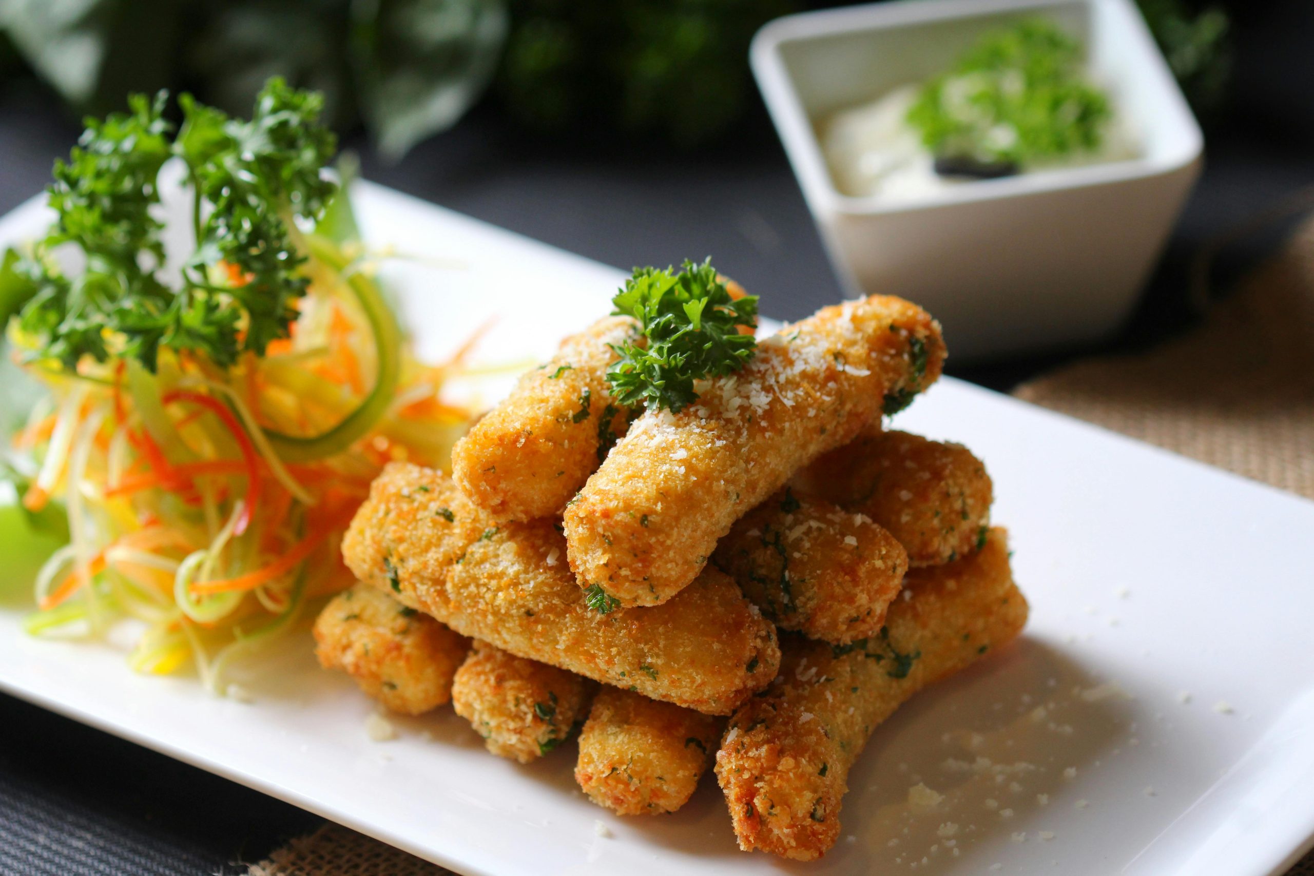
[[[1229,18],[1139,0],[1197,109],[1225,95]],[[34,74],[74,113],[192,91],[233,113],[281,74],[390,158],[491,100],[527,129],[692,148],[757,100],[748,43],[817,0],[4,0],[0,75]]]

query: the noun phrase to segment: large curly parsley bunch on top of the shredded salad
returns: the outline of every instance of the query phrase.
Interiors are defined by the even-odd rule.
[[[319,125],[323,99],[271,79],[242,121],[183,95],[172,141],[164,106],[164,92],[137,95],[129,113],[88,120],[68,162],[55,164],[50,232],[0,265],[0,284],[26,299],[18,331],[29,359],[74,370],[83,357],[122,357],[155,370],[170,348],[226,368],[288,336],[309,284],[294,217],[318,219],[335,189],[321,172],[335,148]],[[170,158],[196,194],[196,250],[166,284],[151,211]],[[54,257],[67,244],[85,256],[79,273]]]

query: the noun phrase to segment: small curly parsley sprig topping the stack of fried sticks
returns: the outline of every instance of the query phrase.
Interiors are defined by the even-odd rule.
[[[737,372],[757,348],[753,335],[738,332],[756,323],[757,296],[732,298],[710,259],[686,260],[678,272],[635,268],[611,302],[614,314],[639,320],[646,339],[614,347],[620,359],[607,381],[622,405],[679,412],[698,399],[694,381]]]

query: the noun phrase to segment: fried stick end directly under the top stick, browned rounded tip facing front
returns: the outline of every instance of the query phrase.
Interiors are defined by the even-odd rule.
[[[781,629],[840,645],[880,632],[908,571],[870,517],[788,487],[736,521],[712,562]]]

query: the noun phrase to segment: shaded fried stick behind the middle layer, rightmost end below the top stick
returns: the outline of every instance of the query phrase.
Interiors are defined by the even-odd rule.
[[[989,529],[993,486],[962,444],[867,429],[809,465],[795,485],[888,529],[913,566],[953,562]]]

